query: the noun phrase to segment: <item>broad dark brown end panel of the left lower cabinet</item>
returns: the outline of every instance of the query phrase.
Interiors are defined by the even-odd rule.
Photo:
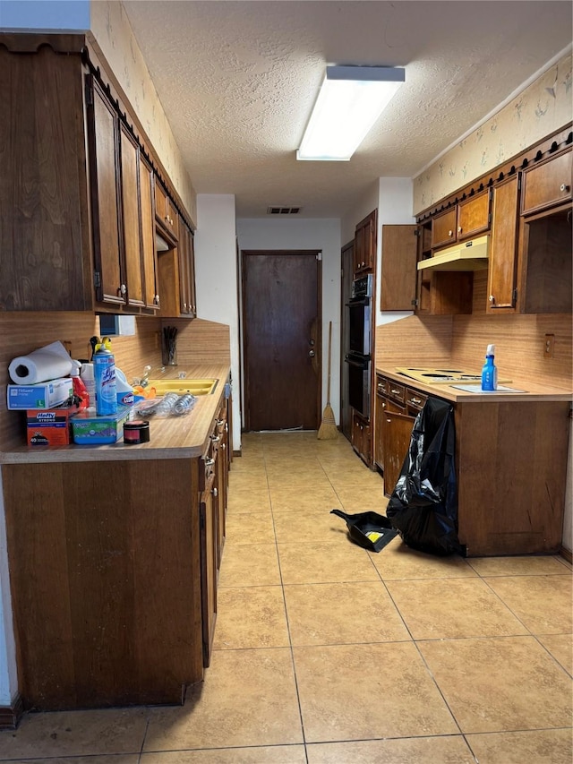
[[[25,708],[178,704],[201,681],[198,461],[3,465]]]

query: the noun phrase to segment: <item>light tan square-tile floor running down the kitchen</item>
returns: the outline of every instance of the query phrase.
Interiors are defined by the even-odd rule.
[[[0,760],[570,764],[568,562],[368,553],[329,514],[386,506],[342,436],[243,453],[205,681],[183,707],[30,713]]]

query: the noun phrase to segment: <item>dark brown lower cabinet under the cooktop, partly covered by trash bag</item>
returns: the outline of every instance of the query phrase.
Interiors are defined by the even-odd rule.
[[[400,475],[415,414],[426,398],[426,392],[377,374],[374,450],[387,496]],[[467,556],[559,552],[569,401],[512,399],[452,405],[458,537]]]

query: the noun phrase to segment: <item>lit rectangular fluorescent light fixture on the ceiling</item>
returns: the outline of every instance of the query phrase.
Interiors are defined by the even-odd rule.
[[[394,66],[327,66],[296,159],[350,159],[404,79]]]

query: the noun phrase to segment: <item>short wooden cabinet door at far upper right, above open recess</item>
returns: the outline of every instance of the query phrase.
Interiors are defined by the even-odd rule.
[[[569,149],[523,173],[521,214],[528,215],[571,201],[571,159]]]

